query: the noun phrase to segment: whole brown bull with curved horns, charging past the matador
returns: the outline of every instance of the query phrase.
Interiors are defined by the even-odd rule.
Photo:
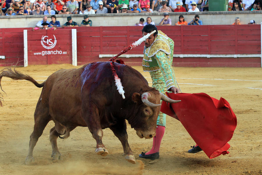
[[[146,79],[129,66],[113,63],[125,91],[125,99],[115,86],[110,62],[94,62],[79,69],[62,69],[50,75],[39,84],[29,75],[5,68],[2,77],[26,79],[37,87],[43,87],[34,113],[34,129],[30,135],[29,152],[25,163],[33,161],[33,149],[49,121],[55,126],[50,130],[52,157],[60,158],[57,138],[67,138],[77,126],[88,127],[96,140],[95,153],[106,156],[107,149],[102,143],[102,129],[110,128],[120,140],[125,159],[135,163],[128,144],[125,119],[140,138],[155,136],[160,100],[171,100],[149,87]],[[1,84],[0,84],[1,85]],[[0,101],[1,103],[1,101]]]

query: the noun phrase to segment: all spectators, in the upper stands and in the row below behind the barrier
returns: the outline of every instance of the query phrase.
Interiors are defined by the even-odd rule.
[[[228,0],[229,10],[261,10],[262,0]],[[44,16],[43,21],[38,22],[36,28],[42,29],[43,23],[48,23],[48,28],[60,27],[55,14],[85,14],[84,20],[79,25],[68,17],[68,22],[63,27],[92,26],[88,14],[101,13],[157,13],[164,12],[164,18],[156,25],[172,25],[169,13],[172,12],[199,12],[208,11],[208,0],[0,0],[0,15],[52,15],[51,22]],[[154,24],[151,17],[146,21],[141,18],[135,25]],[[234,25],[239,25],[240,19],[236,17]],[[251,20],[249,24],[255,24]],[[192,21],[186,22],[183,15],[179,16],[175,25],[203,25],[199,15],[195,15]]]

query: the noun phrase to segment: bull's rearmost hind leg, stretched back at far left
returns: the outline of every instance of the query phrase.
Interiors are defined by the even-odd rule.
[[[40,100],[36,105],[36,111],[34,116],[35,116],[35,125],[34,125],[34,130],[30,135],[29,151],[25,159],[26,165],[30,164],[34,160],[33,149],[36,146],[36,142],[38,141],[38,138],[43,134],[43,130],[45,129],[47,123],[51,119],[51,117],[49,116],[48,108],[44,108]]]

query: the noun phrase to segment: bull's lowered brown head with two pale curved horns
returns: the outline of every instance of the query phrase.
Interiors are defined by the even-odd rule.
[[[169,103],[177,103],[181,100],[172,100],[160,93],[157,90],[151,90],[150,92],[134,93],[132,100],[138,105],[139,108],[135,119],[135,125],[131,127],[137,131],[137,135],[140,138],[145,137],[150,139],[155,136],[157,116],[160,112],[160,100],[164,100]]]

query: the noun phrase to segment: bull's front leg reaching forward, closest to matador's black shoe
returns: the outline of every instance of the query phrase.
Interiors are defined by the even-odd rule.
[[[135,164],[136,159],[134,158],[133,152],[128,144],[125,120],[119,121],[116,125],[110,126],[110,129],[114,132],[114,135],[120,140],[123,146],[125,160]]]

